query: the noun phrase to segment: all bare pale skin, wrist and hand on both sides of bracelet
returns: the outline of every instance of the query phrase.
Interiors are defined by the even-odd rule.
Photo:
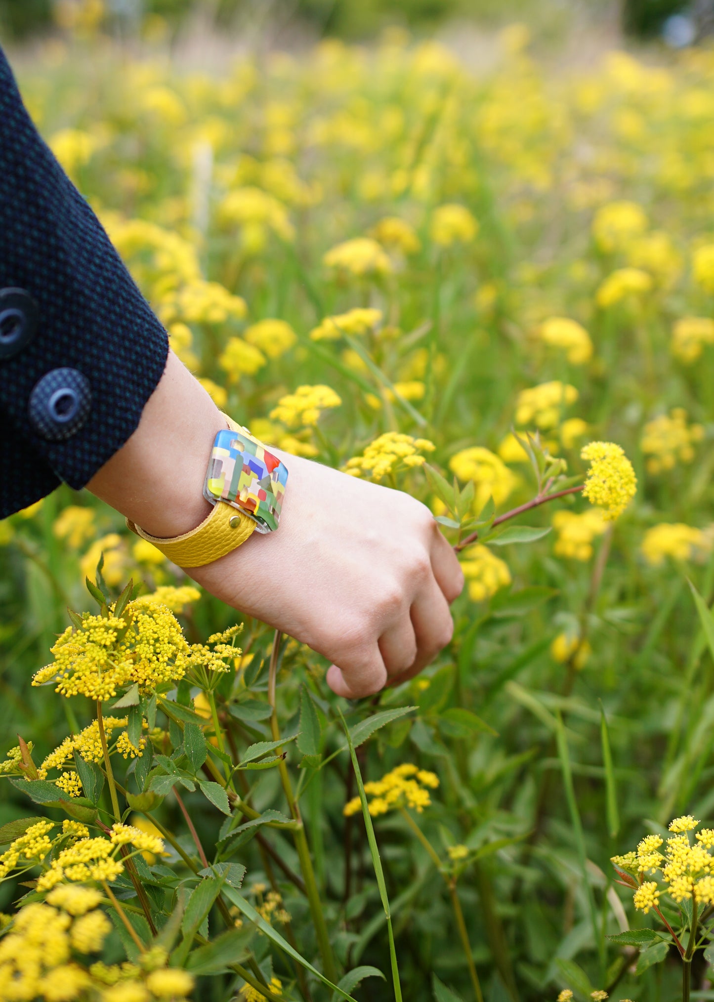
[[[188,532],[210,510],[203,479],[225,427],[169,352],[138,428],[87,487],[153,536]],[[253,533],[187,573],[328,658],[327,684],[337,695],[372,695],[412,678],[451,640],[449,606],[464,586],[432,513],[401,491],[272,451],[288,470],[278,530]]]

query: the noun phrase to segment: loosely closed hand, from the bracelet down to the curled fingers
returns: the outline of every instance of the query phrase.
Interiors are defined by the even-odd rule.
[[[452,638],[464,575],[425,505],[274,450],[288,470],[277,532],[187,573],[333,663],[354,698],[421,671]]]

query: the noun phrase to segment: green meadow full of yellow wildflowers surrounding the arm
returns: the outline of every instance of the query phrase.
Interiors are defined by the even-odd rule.
[[[174,351],[467,585],[350,703],[89,494],[0,522],[0,999],[714,999],[714,49],[209,73],[85,6],[20,86]]]

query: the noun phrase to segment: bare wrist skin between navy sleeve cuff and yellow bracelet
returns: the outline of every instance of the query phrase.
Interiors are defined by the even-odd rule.
[[[153,536],[188,532],[210,511],[203,479],[224,427],[203,387],[169,352],[138,428],[87,488]]]

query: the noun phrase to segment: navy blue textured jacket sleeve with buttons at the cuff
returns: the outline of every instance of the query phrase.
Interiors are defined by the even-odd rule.
[[[0,50],[0,518],[83,487],[136,429],[167,352]]]

